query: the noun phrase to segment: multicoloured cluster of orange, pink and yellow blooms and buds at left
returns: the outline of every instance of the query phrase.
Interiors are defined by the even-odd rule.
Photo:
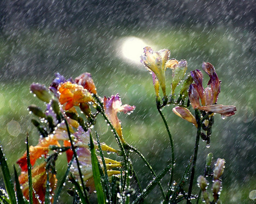
[[[89,193],[92,193],[94,188],[93,170],[91,153],[89,150],[90,132],[95,123],[96,116],[98,114],[97,107],[102,106],[102,110],[109,118],[113,127],[117,131],[122,143],[125,142],[122,135],[121,122],[117,118],[117,113],[123,111],[127,113],[133,111],[135,106],[123,105],[121,98],[118,94],[113,95],[110,98],[104,97],[104,105],[96,103],[96,98],[102,99],[97,96],[96,86],[89,73],[83,73],[75,80],[69,78],[65,79],[59,73],[55,74],[56,78],[52,81],[51,85],[47,89],[42,84],[33,83],[30,86],[32,93],[39,99],[46,102],[46,110],[42,111],[40,107],[31,105],[28,109],[40,120],[32,119],[32,123],[36,126],[40,133],[39,142],[35,146],[29,147],[30,163],[32,166],[32,187],[34,188],[34,203],[44,202],[44,195],[46,193],[46,181],[47,173],[49,174],[49,182],[51,183],[51,194],[56,188],[57,179],[55,176],[55,162],[51,158],[56,160],[57,154],[60,152],[66,152],[68,163],[71,162],[74,155],[73,149],[71,149],[71,142],[73,143],[76,154],[78,156],[79,164],[73,163],[71,173],[79,179],[78,165],[81,168],[83,180],[85,186],[89,189]],[[52,92],[52,93],[51,93]],[[85,114],[85,119],[79,116],[75,107],[79,107],[82,113]],[[96,113],[92,113],[92,108],[96,110]],[[69,134],[73,141],[70,141]],[[93,140],[94,147],[97,149],[97,141]],[[101,143],[102,151],[118,153],[116,149],[113,149]],[[52,154],[51,154],[52,152]],[[55,155],[52,157],[52,155]],[[36,161],[44,157],[47,159],[42,164],[35,165]],[[97,156],[98,162],[103,169],[102,159],[105,160],[107,174],[109,177],[113,175],[120,175],[119,170],[122,164],[119,161],[115,161],[109,158],[102,158]],[[51,164],[49,164],[51,163]],[[22,172],[19,176],[19,182],[22,185],[22,192],[26,199],[28,199],[28,177],[27,177],[27,152],[17,161]],[[53,165],[53,166],[52,166]],[[49,170],[49,167],[53,170]],[[52,199],[53,201],[53,199]]]

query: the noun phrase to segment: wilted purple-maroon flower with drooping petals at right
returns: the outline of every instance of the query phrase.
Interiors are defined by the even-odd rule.
[[[200,70],[191,72],[195,84],[189,86],[188,97],[193,109],[200,109],[207,112],[219,113],[224,116],[234,115],[236,106],[217,105],[218,94],[220,93],[220,80],[214,66],[210,63],[203,63],[204,71],[209,75],[208,87],[203,88],[203,73]],[[210,85],[210,87],[209,87]],[[201,105],[200,101],[201,99]]]

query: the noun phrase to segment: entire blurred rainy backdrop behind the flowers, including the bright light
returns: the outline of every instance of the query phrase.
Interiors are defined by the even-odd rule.
[[[106,1],[46,1],[42,5],[2,1],[0,141],[9,166],[24,153],[26,132],[32,145],[38,142],[27,106],[44,104],[30,93],[30,84],[36,81],[48,86],[55,72],[67,78],[90,72],[99,95],[119,93],[123,104],[136,106],[131,115],[119,115],[125,140],[137,147],[159,173],[170,161],[171,149],[155,107],[152,77],[139,63],[143,46],[150,45],[155,50],[170,49],[171,57],[177,60],[186,59],[187,72],[201,69],[203,61],[216,68],[222,81],[218,103],[235,105],[237,112],[224,120],[216,115],[210,147],[200,141],[196,177],[203,174],[205,157],[212,152],[214,161],[218,157],[226,160],[222,203],[254,203],[249,193],[256,189],[255,9],[251,9],[256,6],[236,1],[223,1],[222,5],[218,1],[191,2],[120,1],[112,5]],[[171,70],[166,76],[170,93]],[[204,74],[205,86],[207,82]],[[196,129],[174,115],[172,106],[163,113],[174,137],[174,179],[179,181],[193,153]],[[117,148],[100,116],[95,129],[101,141]],[[61,157],[58,178],[67,166],[65,156]],[[142,187],[146,187],[151,174],[137,156],[132,157]],[[167,184],[168,177],[162,181]],[[195,193],[199,190],[196,186],[194,189]],[[71,202],[65,191],[61,198],[60,203]],[[144,203],[159,202],[160,193],[155,188]]]

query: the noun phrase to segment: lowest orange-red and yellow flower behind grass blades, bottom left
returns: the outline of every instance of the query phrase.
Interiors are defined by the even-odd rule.
[[[36,166],[31,171],[32,173],[32,187],[33,191],[33,203],[39,203],[36,197],[39,197],[39,200],[44,203],[45,195],[46,195],[46,182],[47,182],[47,174],[46,174],[46,163],[43,163],[39,166]],[[22,186],[22,193],[26,199],[29,197],[28,190],[28,174],[27,172],[22,172],[19,176],[19,182]],[[49,189],[50,195],[53,195],[54,190],[56,189],[57,179],[56,176],[49,172]],[[53,202],[53,198],[51,198],[51,202]]]

